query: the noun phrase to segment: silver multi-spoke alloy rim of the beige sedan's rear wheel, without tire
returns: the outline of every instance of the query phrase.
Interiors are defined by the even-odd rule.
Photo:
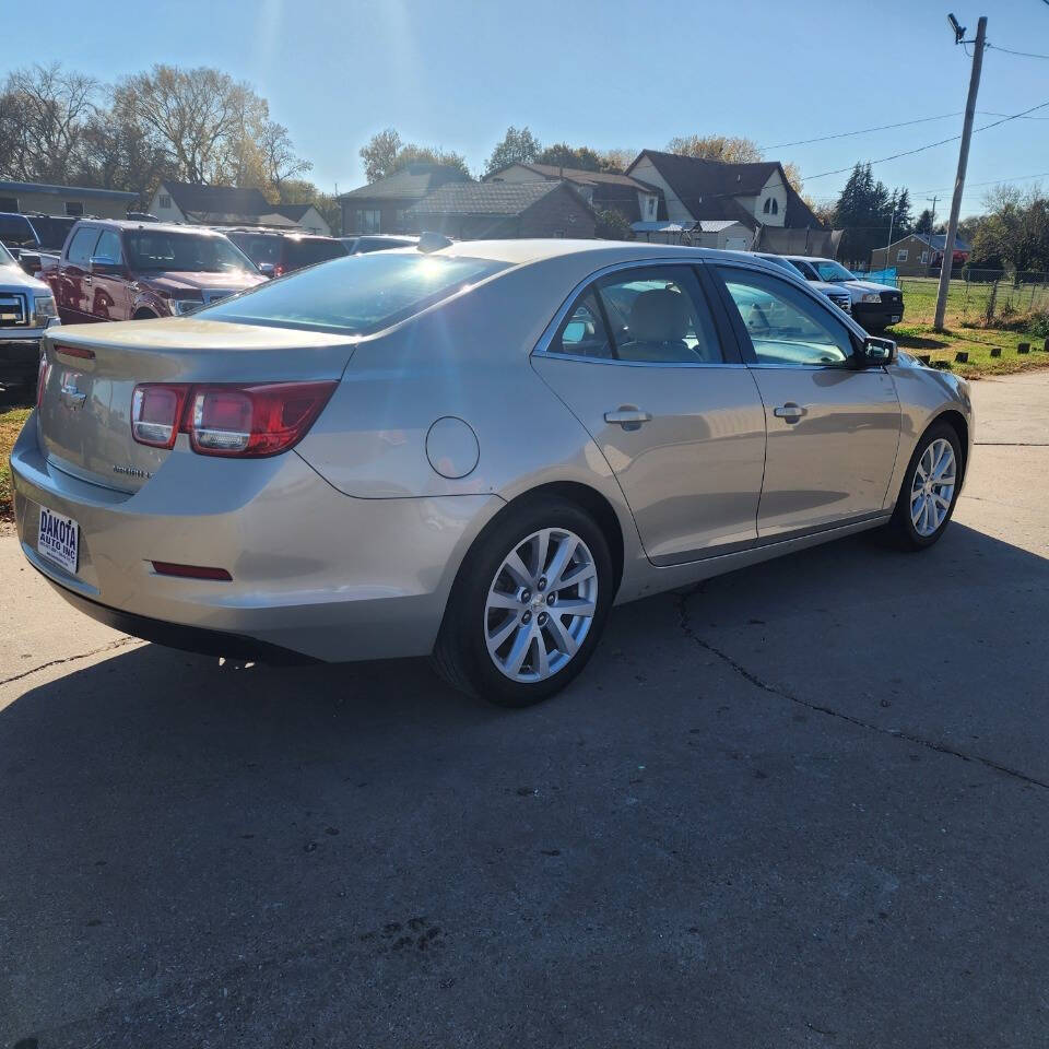
[[[597,605],[598,571],[587,544],[564,528],[532,532],[504,558],[488,587],[488,655],[512,681],[544,681],[579,650]]]

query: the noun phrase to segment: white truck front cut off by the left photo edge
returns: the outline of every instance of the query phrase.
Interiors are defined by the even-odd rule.
[[[51,290],[23,272],[0,244],[0,388],[33,388],[40,366],[40,337],[57,323]]]

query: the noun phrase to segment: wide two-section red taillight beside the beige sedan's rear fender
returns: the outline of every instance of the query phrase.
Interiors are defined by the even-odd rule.
[[[181,429],[202,456],[275,456],[305,436],[338,385],[144,382],[132,394],[131,434],[139,444],[173,448]]]

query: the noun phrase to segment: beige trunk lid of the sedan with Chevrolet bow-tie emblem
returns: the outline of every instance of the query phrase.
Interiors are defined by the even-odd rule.
[[[195,318],[54,329],[37,437],[60,470],[137,492],[172,453],[131,436],[138,384],[331,380],[353,350],[345,335]]]

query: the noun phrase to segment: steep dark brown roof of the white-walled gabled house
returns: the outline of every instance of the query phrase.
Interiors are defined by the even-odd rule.
[[[768,180],[778,174],[787,193],[785,225],[822,228],[820,220],[787,181],[778,161],[724,164],[659,150],[643,150],[627,174],[643,157],[648,157],[694,219],[733,219],[753,229],[758,225],[757,220],[734,198],[756,197]]]

